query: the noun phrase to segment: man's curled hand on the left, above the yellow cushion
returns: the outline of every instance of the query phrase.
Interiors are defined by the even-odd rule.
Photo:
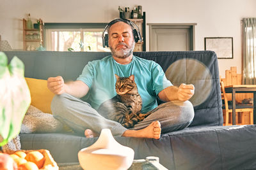
[[[54,94],[65,93],[65,83],[61,76],[49,77],[47,79],[47,87]]]

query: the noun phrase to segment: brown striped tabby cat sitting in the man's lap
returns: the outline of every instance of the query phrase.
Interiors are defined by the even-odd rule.
[[[119,122],[126,128],[132,128],[149,114],[140,113],[142,100],[134,75],[119,77],[115,74],[115,76],[116,96],[100,104],[97,111],[105,118]]]

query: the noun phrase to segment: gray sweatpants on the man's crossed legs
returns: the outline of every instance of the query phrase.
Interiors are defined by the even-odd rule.
[[[67,124],[74,132],[84,134],[85,129],[100,133],[108,128],[113,136],[122,136],[127,130],[118,122],[102,117],[90,104],[70,94],[56,95],[51,104],[52,115]],[[162,133],[184,129],[194,118],[193,105],[189,101],[163,103],[150,111],[151,114],[134,126],[134,130],[143,129],[158,120]]]

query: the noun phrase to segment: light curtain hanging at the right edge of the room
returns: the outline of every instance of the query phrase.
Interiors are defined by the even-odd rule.
[[[243,18],[243,84],[256,85],[256,18]]]

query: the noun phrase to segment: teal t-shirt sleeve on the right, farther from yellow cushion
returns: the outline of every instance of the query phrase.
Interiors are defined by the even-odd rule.
[[[171,81],[167,80],[162,67],[156,62],[154,62],[154,66],[152,67],[152,79],[153,90],[156,92],[156,95],[166,87],[172,86]]]

